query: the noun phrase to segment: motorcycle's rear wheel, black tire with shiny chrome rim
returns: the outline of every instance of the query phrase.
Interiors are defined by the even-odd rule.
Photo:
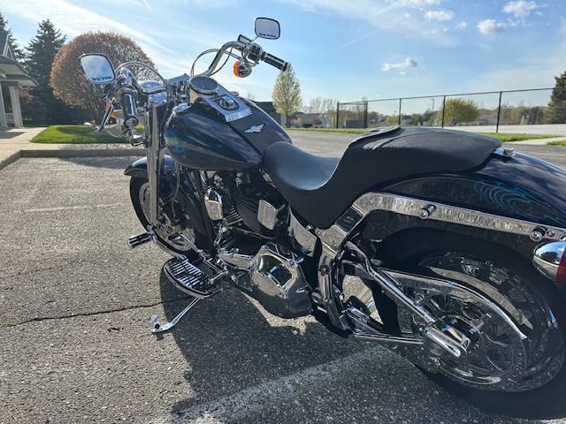
[[[521,340],[509,324],[458,296],[408,289],[431,314],[472,342],[465,363],[435,358],[440,372],[421,368],[423,372],[455,395],[496,413],[566,415],[566,302],[555,287],[524,258],[501,246],[449,236],[413,239],[410,246],[387,266],[467,285],[508,311],[527,336]]]

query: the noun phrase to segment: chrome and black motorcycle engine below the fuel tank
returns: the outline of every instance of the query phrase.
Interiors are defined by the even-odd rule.
[[[304,257],[292,246],[266,243],[287,234],[285,200],[259,172],[206,177],[205,207],[221,235],[218,259],[231,269],[233,284],[277,316],[310,314]]]

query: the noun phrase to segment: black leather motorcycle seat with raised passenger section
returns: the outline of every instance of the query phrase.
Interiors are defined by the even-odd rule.
[[[328,228],[371,189],[422,174],[471,170],[499,147],[499,140],[476,133],[394,127],[363,134],[341,158],[280,141],[265,151],[264,170],[300,216]]]

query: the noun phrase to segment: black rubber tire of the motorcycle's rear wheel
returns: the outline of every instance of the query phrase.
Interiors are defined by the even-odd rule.
[[[402,249],[389,246],[387,250],[396,253],[389,254],[386,268],[424,276],[449,275],[457,283],[466,284],[465,277],[458,279],[459,271],[463,276],[471,276],[482,284],[489,284],[489,287],[486,286],[489,289],[487,292],[495,289],[504,295],[505,299],[528,317],[533,327],[526,332],[526,356],[519,359],[525,361],[522,366],[524,374],[514,376],[516,380],[510,379],[507,385],[498,387],[494,384],[490,387],[485,382],[478,383],[479,380],[472,379],[472,375],[470,381],[466,381],[465,373],[451,375],[447,372],[432,373],[419,369],[444,389],[494,413],[537,419],[565,416],[566,299],[555,286],[523,257],[503,246],[475,239],[456,239],[452,235],[438,233],[424,233],[418,239],[413,238],[410,243],[408,241],[405,239],[395,242],[398,247],[403,246]],[[485,329],[486,332],[488,330]],[[496,342],[504,346],[505,339]],[[494,368],[499,369],[509,363],[509,360],[516,360],[503,356],[495,355],[491,359]]]

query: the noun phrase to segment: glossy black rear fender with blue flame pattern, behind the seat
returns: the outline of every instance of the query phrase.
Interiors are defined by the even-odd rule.
[[[543,229],[566,228],[566,170],[528,155],[492,155],[478,170],[413,178],[381,191],[537,223]],[[368,217],[365,231],[373,234],[373,238],[387,239],[400,231],[423,228],[508,246],[529,261],[538,244],[544,241],[379,210]]]

